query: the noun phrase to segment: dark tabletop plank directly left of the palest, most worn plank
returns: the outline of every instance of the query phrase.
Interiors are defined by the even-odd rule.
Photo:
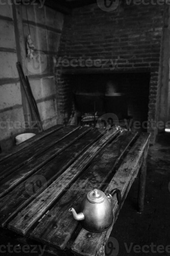
[[[81,153],[101,137],[101,134],[98,131],[96,132],[94,129],[92,131],[89,130],[91,130],[91,128],[87,129],[86,127],[83,127],[64,141],[60,142],[58,149],[65,149],[60,155],[48,162],[43,168],[34,173],[33,176],[22,182],[14,190],[0,199],[0,225],[2,227],[4,227],[8,220],[15,216],[24,206],[28,205],[30,201],[45,190],[45,188],[49,186],[57,176],[64,172]],[[69,144],[71,145],[70,148],[68,147]],[[49,154],[52,154],[52,151],[49,152]],[[40,159],[40,161],[42,161],[42,159]],[[36,163],[37,161],[35,161],[35,164]],[[42,186],[39,190],[37,188],[36,191],[33,191],[33,188],[28,187],[28,184],[30,182],[36,184],[36,180],[39,179],[38,177],[40,175],[43,177],[43,180],[45,179],[46,184],[43,183],[42,185],[44,185],[44,187]],[[26,186],[28,189],[26,189]]]

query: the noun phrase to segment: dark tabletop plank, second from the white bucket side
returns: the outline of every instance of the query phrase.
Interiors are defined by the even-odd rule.
[[[29,148],[25,148],[22,153],[18,153],[17,155],[12,155],[10,158],[5,159],[0,163],[1,173],[0,179],[8,176],[10,173],[17,170],[19,167],[24,164],[30,162],[35,156],[38,156],[49,150],[55,144],[60,142],[62,139],[68,137],[71,133],[74,133],[76,130],[80,129],[80,127],[76,126],[66,126],[45,137],[43,140],[38,141],[36,145],[31,145]]]

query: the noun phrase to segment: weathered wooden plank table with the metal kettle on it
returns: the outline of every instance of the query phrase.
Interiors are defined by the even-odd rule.
[[[56,125],[1,153],[1,234],[12,230],[19,234],[18,240],[38,241],[56,255],[68,255],[70,249],[73,254],[104,255],[139,170],[138,206],[143,211],[149,137],[149,133],[101,133],[97,128]],[[106,194],[118,188],[122,202],[118,206],[115,197],[111,200],[111,228],[88,238],[88,231],[68,209],[74,207],[79,212],[84,196],[94,188]]]

